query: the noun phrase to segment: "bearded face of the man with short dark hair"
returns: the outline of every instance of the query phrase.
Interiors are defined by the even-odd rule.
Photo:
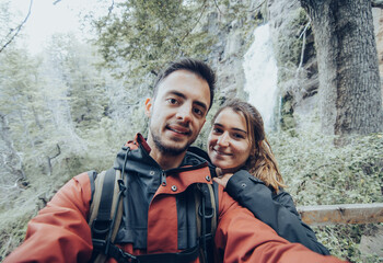
[[[155,99],[146,102],[149,146],[160,153],[183,153],[202,128],[209,104],[206,80],[187,70],[169,75],[159,84]]]

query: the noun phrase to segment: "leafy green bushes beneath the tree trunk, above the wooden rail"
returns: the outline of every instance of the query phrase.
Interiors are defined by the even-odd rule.
[[[355,137],[343,148],[333,145],[333,137],[316,132],[295,137],[281,133],[271,138],[298,204],[383,202],[382,134]]]

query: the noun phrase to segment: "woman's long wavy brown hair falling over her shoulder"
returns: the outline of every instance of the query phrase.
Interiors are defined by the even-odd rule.
[[[280,187],[287,187],[279,172],[271,146],[266,138],[264,121],[259,112],[247,102],[231,99],[217,111],[212,123],[214,123],[217,116],[227,107],[244,116],[246,121],[248,140],[252,147],[249,157],[245,163],[246,170],[255,178],[264,181],[267,186],[271,186],[277,193]]]

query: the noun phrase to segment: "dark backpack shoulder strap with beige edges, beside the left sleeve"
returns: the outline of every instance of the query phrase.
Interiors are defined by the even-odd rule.
[[[89,219],[93,241],[91,262],[105,262],[105,244],[114,242],[117,236],[123,217],[123,202],[118,202],[120,178],[120,171],[112,168],[100,173],[94,180]]]

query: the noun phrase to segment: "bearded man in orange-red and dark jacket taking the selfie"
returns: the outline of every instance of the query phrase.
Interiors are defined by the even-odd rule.
[[[187,148],[205,124],[213,87],[214,73],[206,64],[193,59],[171,64],[144,104],[148,139],[137,134],[117,155],[114,168],[127,173],[127,191],[115,243],[125,251],[123,258],[130,259],[125,262],[143,262],[135,258],[140,254],[175,254],[198,245],[196,211],[187,195],[196,183],[212,180],[208,163]],[[68,182],[31,220],[24,243],[4,262],[88,262],[92,184],[88,173]],[[340,262],[278,237],[222,187],[218,203],[217,262]],[[172,262],[200,262],[198,256],[179,259],[184,260]]]

